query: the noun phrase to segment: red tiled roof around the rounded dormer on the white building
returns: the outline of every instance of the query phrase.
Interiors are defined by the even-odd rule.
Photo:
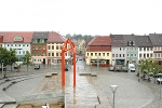
[[[14,43],[14,38],[21,36],[24,38],[24,43],[29,43],[31,42],[32,35],[32,31],[10,31],[3,37],[3,42]]]

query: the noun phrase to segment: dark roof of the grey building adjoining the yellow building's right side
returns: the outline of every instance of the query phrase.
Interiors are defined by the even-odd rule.
[[[126,46],[123,35],[110,35],[112,46]]]

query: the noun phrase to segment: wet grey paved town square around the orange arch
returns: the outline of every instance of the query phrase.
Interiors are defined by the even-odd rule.
[[[48,72],[58,72],[50,79],[45,78]],[[79,73],[96,73],[97,77],[79,76]],[[40,70],[33,67],[26,71],[26,66],[22,66],[21,72],[8,72],[10,79],[26,79],[21,81],[6,91],[2,91],[10,82],[0,85],[0,102],[14,102],[21,96],[43,93],[63,93],[66,95],[67,108],[94,108],[98,105],[98,97],[103,107],[111,108],[112,92],[111,84],[119,87],[116,91],[116,108],[162,108],[162,99],[160,99],[160,85],[144,81],[136,77],[136,72],[114,72],[108,71],[107,67],[86,66],[83,60],[77,62],[77,85],[73,89],[72,83],[72,66],[66,71],[66,85],[62,87],[60,66],[51,67],[42,66]],[[2,75],[0,76],[2,77]],[[0,80],[3,82],[4,79]],[[11,108],[11,106],[5,107]]]

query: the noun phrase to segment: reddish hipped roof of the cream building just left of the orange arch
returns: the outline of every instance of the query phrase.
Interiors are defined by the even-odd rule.
[[[66,41],[65,38],[63,38],[59,33],[57,32],[49,32],[49,38],[48,38],[48,43],[52,42],[52,43],[64,43]]]

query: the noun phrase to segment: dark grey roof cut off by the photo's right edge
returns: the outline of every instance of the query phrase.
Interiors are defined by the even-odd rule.
[[[153,46],[162,46],[162,35],[161,33],[150,33],[149,38]]]

